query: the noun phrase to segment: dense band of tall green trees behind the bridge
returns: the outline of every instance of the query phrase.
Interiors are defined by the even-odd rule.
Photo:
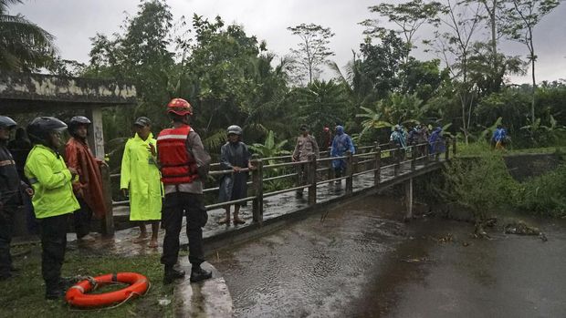
[[[369,13],[376,16],[361,22],[365,38],[359,47],[348,48],[352,58],[345,67],[332,61],[329,27],[289,26],[299,44],[290,55],[278,56],[246,26],[198,13],[175,19],[164,0],[143,0],[119,32],[92,37],[89,62],[82,65],[58,56],[53,37],[38,26],[26,21],[27,28],[17,32],[6,28],[11,21],[24,21],[21,15],[7,15],[8,5],[16,3],[0,0],[2,69],[43,67],[61,75],[123,79],[137,87],[134,108],[105,110],[112,153],[119,153],[124,138],[131,136],[136,117],[152,118],[155,132],[169,126],[164,107],[172,97],[192,104],[192,125],[211,150],[225,142],[225,128],[233,124],[244,129],[246,142],[257,144],[257,151],[273,145],[277,151],[291,149],[302,124],[319,138],[322,128],[341,124],[368,142],[384,138],[395,124],[417,122],[451,125],[451,133],[466,141],[484,138],[495,122],[508,128],[516,146],[564,139],[566,83],[514,86],[508,81],[509,75],[526,71],[521,56],[527,56],[534,74],[529,29],[559,4],[554,0],[373,5]],[[426,38],[424,29],[435,36]],[[43,35],[45,41],[26,32]],[[498,46],[505,36],[529,47],[509,54]],[[31,39],[25,47],[31,53],[6,53],[6,47],[26,39]],[[417,58],[417,46],[435,58]]]

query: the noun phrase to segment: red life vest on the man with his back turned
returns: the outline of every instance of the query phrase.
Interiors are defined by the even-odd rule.
[[[185,125],[163,129],[157,137],[157,149],[163,184],[190,183],[198,178],[196,161],[187,150],[187,138],[193,130]]]

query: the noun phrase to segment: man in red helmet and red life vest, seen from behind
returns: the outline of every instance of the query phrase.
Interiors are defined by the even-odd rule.
[[[212,272],[201,268],[204,262],[203,227],[208,214],[203,202],[203,182],[208,173],[210,156],[193,128],[189,118],[193,108],[182,98],[173,98],[167,105],[173,128],[163,129],[157,137],[157,153],[162,171],[165,200],[162,210],[162,227],[165,229],[161,262],[165,265],[163,283],[183,278],[184,272],[176,269],[179,256],[179,233],[186,215],[189,238],[191,282],[212,277]]]

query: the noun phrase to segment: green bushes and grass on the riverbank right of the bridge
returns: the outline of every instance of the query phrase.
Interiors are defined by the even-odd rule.
[[[491,216],[518,211],[543,217],[566,215],[566,166],[519,182],[508,172],[502,154],[453,159],[438,191],[447,202],[470,210],[481,231]]]

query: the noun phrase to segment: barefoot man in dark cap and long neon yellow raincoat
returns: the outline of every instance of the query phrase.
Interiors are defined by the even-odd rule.
[[[147,239],[145,223],[149,222],[152,224],[149,246],[157,248],[163,193],[157,167],[157,141],[152,135],[150,118],[137,118],[133,127],[136,133],[126,142],[121,159],[120,189],[125,197],[130,195],[130,221],[140,224],[140,236],[134,243]]]

